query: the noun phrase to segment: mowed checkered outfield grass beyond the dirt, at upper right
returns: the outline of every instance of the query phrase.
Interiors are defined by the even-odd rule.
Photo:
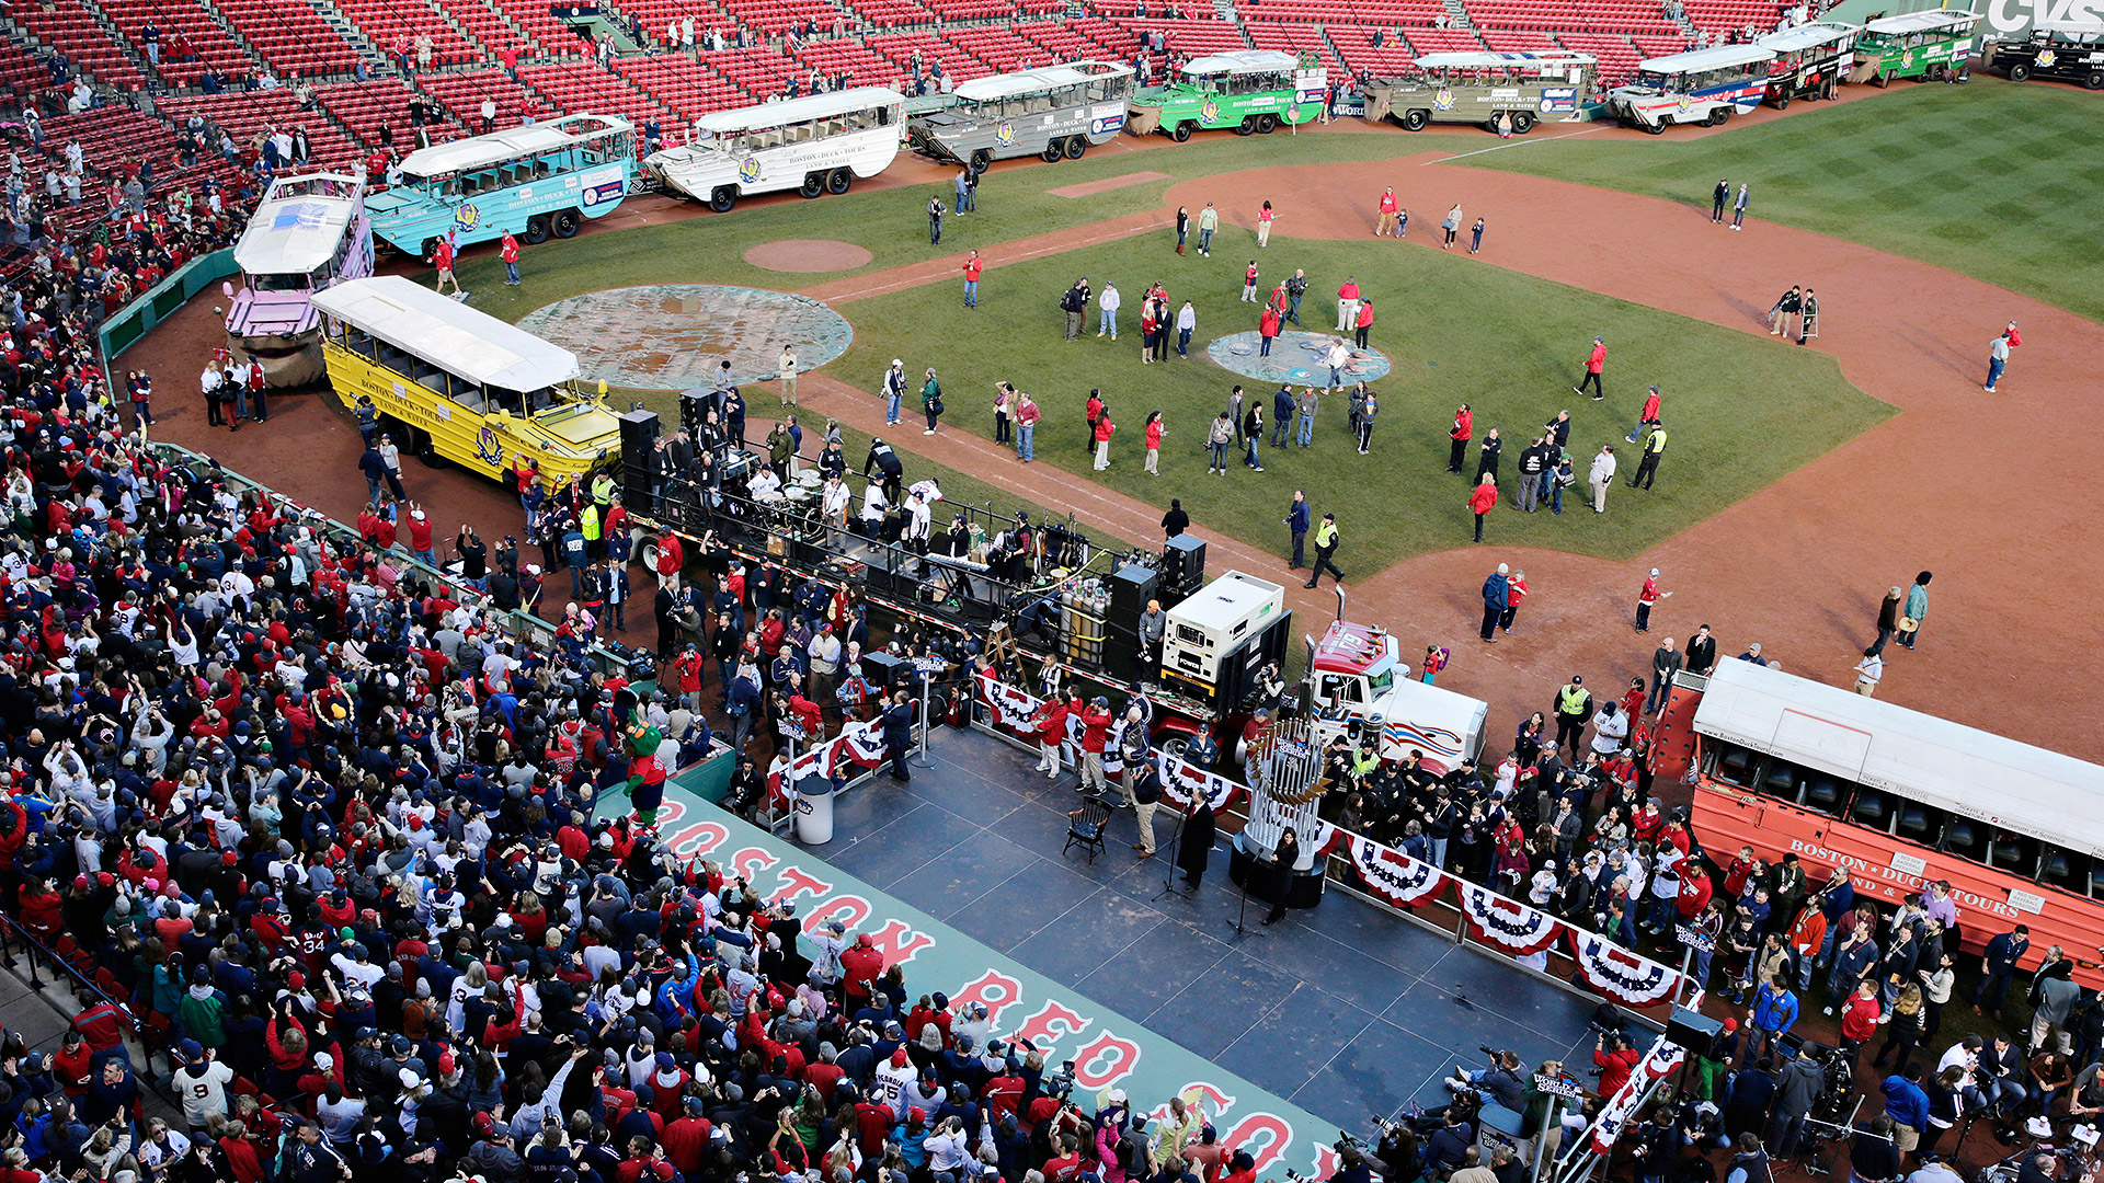
[[[2077,86],[1974,76],[1894,84],[1784,120],[1666,141],[1544,139],[1464,164],[1751,213],[1978,276],[2104,320],[2104,105]]]

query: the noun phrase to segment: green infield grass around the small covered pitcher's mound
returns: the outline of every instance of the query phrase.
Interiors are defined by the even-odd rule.
[[[1372,255],[1378,250],[1378,255]],[[1372,455],[1347,444],[1342,398],[1323,402],[1313,448],[1262,448],[1265,469],[1231,465],[1208,478],[1201,440],[1241,381],[1262,398],[1271,389],[1239,379],[1201,358],[1201,345],[1256,326],[1256,305],[1239,303],[1241,269],[1254,255],[1246,232],[1227,229],[1214,259],[1178,259],[1166,234],[991,272],[980,307],[962,307],[959,284],[943,282],[854,301],[842,312],[856,341],[829,366],[833,377],[877,389],[890,358],[907,362],[917,389],[934,366],[943,379],[947,429],[991,434],[993,383],[1029,389],[1046,408],[1037,429],[1039,461],[1054,463],[1155,505],[1182,497],[1191,514],[1218,530],[1262,547],[1283,543],[1279,518],[1294,488],[1307,488],[1315,509],[1336,509],[1349,530],[1340,554],[1347,570],[1370,573],[1412,554],[1464,545],[1473,518],[1462,505],[1462,478],[1443,472],[1454,406],[1477,410],[1477,436],[1500,427],[1506,438],[1502,474],[1513,486],[1519,450],[1559,408],[1576,421],[1572,450],[1578,474],[1603,442],[1616,444],[1635,469],[1622,438],[1635,421],[1643,387],[1664,389],[1671,448],[1652,493],[1618,488],[1599,518],[1565,499],[1565,514],[1498,514],[1488,539],[1626,558],[1708,514],[1732,505],[1778,476],[1879,423],[1889,408],[1852,387],[1830,358],[1769,337],[1700,324],[1519,276],[1458,255],[1412,246],[1370,248],[1361,242],[1307,242],[1273,236],[1262,253],[1265,290],[1271,280],[1304,267],[1311,278],[1302,320],[1334,326],[1336,286],[1355,272],[1376,301],[1374,347],[1395,358],[1395,373],[1374,389],[1382,410]],[[1063,339],[1058,293],[1075,276],[1100,290],[1117,282],[1126,295],[1119,341],[1096,339],[1094,322],[1077,343]],[[1199,328],[1191,360],[1140,364],[1138,297],[1149,282],[1168,284],[1172,307],[1197,305]],[[1323,316],[1328,314],[1328,320]],[[1094,316],[1094,312],[1092,312]],[[1572,394],[1593,335],[1610,343],[1605,402]],[[1119,425],[1113,467],[1092,472],[1081,448],[1081,404],[1102,387]],[[919,423],[909,402],[907,423]],[[1161,476],[1142,472],[1142,421],[1164,410],[1170,427]],[[917,429],[901,432],[907,448]],[[1269,432],[1267,432],[1269,444]],[[1473,474],[1473,450],[1471,450]]]

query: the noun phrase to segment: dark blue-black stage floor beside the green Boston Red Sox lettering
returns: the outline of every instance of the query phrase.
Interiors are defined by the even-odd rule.
[[[1140,861],[1117,810],[1088,865],[1060,857],[1073,773],[1050,783],[1033,754],[976,730],[936,730],[930,758],[911,785],[879,775],[837,798],[814,855],[1319,1118],[1363,1130],[1370,1114],[1443,1103],[1439,1078],[1481,1067],[1477,1044],[1591,1067],[1599,1000],[1342,890],[1271,928],[1252,899],[1237,941],[1227,836],[1203,890],[1164,893],[1174,815],[1155,815],[1159,853]]]

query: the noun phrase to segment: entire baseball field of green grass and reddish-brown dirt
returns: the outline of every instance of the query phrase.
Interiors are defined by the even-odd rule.
[[[806,423],[837,419],[856,453],[886,434],[953,499],[1071,512],[1111,539],[1157,539],[1161,507],[1180,497],[1218,568],[1283,575],[1279,518],[1304,488],[1340,518],[1351,615],[1405,634],[1405,648],[1466,644],[1485,566],[1525,566],[1519,644],[1471,650],[1441,680],[1511,709],[1572,669],[1643,665],[1652,640],[1631,638],[1628,619],[1647,566],[1679,592],[1664,631],[1711,623],[1729,653],[1761,640],[1786,667],[1837,682],[1883,589],[1936,568],[1929,636],[1942,636],[1889,667],[1885,695],[2098,756],[2079,722],[2072,646],[2026,648],[2022,676],[1976,659],[2028,634],[2011,587],[2104,577],[2098,547],[2081,543],[2081,503],[2026,495],[2037,474],[2077,467],[2081,440],[2104,429],[2085,394],[2104,356],[2096,112],[2075,88],[1980,78],[1852,86],[1839,103],[1662,139],[1544,124],[1496,141],[1357,122],[1187,145],[1126,137],[1079,162],[997,164],[978,210],[945,217],[940,246],[926,206],[951,202],[953,173],[903,158],[844,198],[753,200],[730,215],[631,198],[593,232],[528,250],[520,288],[497,282],[494,255],[461,274],[478,307],[509,320],[631,284],[818,299],[852,326],[852,345],[804,377]],[[1711,225],[1721,177],[1753,187],[1742,234]],[[1412,213],[1408,240],[1372,238],[1382,187]],[[1279,219],[1258,250],[1265,200]],[[1222,217],[1212,257],[1178,257],[1174,213],[1206,202]],[[1437,248],[1456,202],[1464,227],[1488,221],[1481,255]],[[747,257],[770,244],[802,244],[804,263]],[[976,309],[959,272],[972,248],[987,263]],[[1262,474],[1235,463],[1208,478],[1203,427],[1237,381],[1269,419],[1273,387],[1203,356],[1256,326],[1256,305],[1239,301],[1252,259],[1262,293],[1307,272],[1309,328],[1334,328],[1347,276],[1374,301],[1372,347],[1393,370],[1372,383],[1382,413],[1370,455],[1347,446],[1342,400],[1330,398],[1311,448],[1281,453],[1267,438]],[[1058,295],[1079,276],[1126,295],[1119,341],[1094,335],[1094,309],[1079,341],[1063,339]],[[1140,364],[1138,295],[1153,282],[1172,307],[1193,301],[1189,360]],[[1765,333],[1793,284],[1822,301],[1822,333],[1805,345]],[[612,337],[627,347],[633,330],[648,356],[650,320]],[[2026,345],[1988,396],[1986,345],[2007,320],[2024,324]],[[1603,402],[1572,394],[1595,335],[1607,341]],[[873,392],[892,358],[915,389],[924,368],[938,373],[938,436],[922,436],[911,398],[907,423],[886,429]],[[995,381],[1041,402],[1039,463],[991,442]],[[671,410],[684,383],[661,385],[616,394]],[[1469,541],[1464,482],[1443,472],[1456,404],[1473,404],[1479,440],[1502,429],[1509,490],[1519,450],[1561,408],[1580,469],[1614,444],[1626,476],[1624,436],[1647,385],[1662,389],[1671,427],[1654,490],[1618,486],[1603,516],[1576,499],[1563,516],[1528,516],[1506,497],[1485,545]],[[1092,472],[1081,446],[1092,387],[1119,425],[1109,472]],[[774,406],[764,389],[755,417]],[[1168,425],[1159,478],[1142,472],[1149,410]],[[1328,592],[1294,596],[1302,610],[1336,608]]]

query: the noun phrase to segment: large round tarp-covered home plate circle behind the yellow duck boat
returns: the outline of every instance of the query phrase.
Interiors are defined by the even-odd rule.
[[[753,383],[781,373],[783,345],[814,370],[854,341],[848,318],[791,293],[717,284],[648,284],[537,307],[520,328],[576,354],[587,381],[631,389]]]

